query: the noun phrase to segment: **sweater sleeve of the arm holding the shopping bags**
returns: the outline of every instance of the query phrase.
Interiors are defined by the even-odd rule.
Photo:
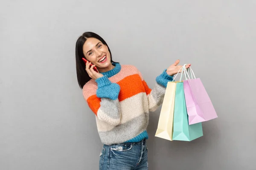
[[[153,89],[151,89],[148,87],[147,83],[143,79],[140,71],[139,71],[139,75],[143,81],[143,85],[148,97],[149,111],[156,111],[157,108],[163,103],[163,98],[165,95],[167,83],[173,80],[173,76],[169,76],[166,73],[166,69],[165,69],[162,74],[157,76],[155,86]]]

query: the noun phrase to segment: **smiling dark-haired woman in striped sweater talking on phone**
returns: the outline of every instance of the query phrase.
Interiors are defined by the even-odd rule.
[[[86,66],[82,58],[88,60]],[[178,63],[179,60],[165,69],[151,90],[136,67],[113,62],[102,37],[85,32],[78,38],[77,79],[84,99],[96,115],[99,137],[104,144],[100,170],[148,169],[148,113],[162,104],[167,82],[182,67]]]

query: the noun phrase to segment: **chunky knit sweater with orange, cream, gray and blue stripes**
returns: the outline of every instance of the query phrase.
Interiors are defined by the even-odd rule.
[[[107,145],[148,139],[148,114],[163,103],[167,82],[173,77],[164,70],[150,89],[135,66],[112,65],[115,68],[83,87],[84,99],[96,117],[99,137]]]

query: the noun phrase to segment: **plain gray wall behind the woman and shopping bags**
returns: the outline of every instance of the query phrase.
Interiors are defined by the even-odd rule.
[[[192,142],[154,137],[149,170],[253,170],[255,0],[44,0],[0,5],[0,169],[96,170],[102,148],[76,79],[75,43],[101,35],[113,59],[148,85],[176,59],[192,63],[218,113]]]

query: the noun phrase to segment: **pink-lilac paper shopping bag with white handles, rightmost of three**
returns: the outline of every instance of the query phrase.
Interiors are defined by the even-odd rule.
[[[184,69],[184,71],[186,73],[186,80],[183,80],[183,87],[189,125],[217,118],[217,113],[201,79],[195,78],[191,68],[188,68],[188,71]],[[192,79],[190,79],[188,72],[191,73],[190,77]]]

